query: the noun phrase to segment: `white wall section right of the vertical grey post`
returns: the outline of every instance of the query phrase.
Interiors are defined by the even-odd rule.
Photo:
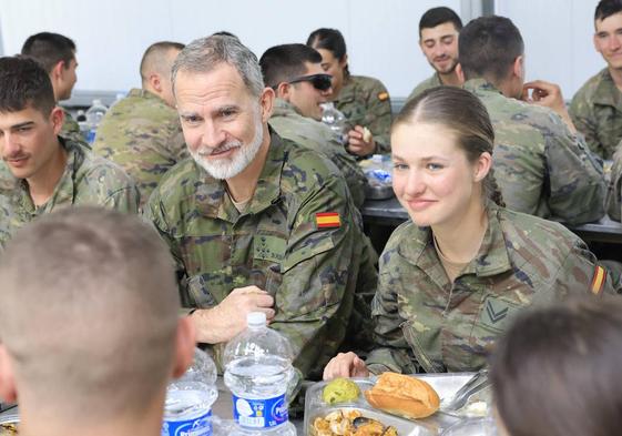
[[[528,80],[555,82],[570,100],[605,65],[592,43],[596,4],[598,0],[497,0],[494,10],[522,33]]]

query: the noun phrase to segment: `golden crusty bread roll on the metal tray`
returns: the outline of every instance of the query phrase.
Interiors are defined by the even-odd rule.
[[[384,373],[365,392],[367,402],[381,410],[407,418],[430,416],[440,405],[436,391],[426,382],[402,374]]]

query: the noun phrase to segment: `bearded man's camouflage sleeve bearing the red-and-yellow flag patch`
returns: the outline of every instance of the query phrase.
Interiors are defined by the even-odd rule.
[[[294,364],[305,377],[337,353],[353,310],[360,245],[345,190],[343,179],[329,178],[302,199],[281,274],[268,276],[281,281],[271,326],[289,338]],[[316,213],[323,212],[338,213],[340,225],[319,229]]]

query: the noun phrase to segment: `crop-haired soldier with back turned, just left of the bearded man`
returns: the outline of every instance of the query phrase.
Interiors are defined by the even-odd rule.
[[[142,89],[105,113],[93,151],[123,168],[136,182],[143,206],[160,179],[175,163],[188,156],[175,98],[171,68],[184,48],[177,42],[156,42],[141,61]]]

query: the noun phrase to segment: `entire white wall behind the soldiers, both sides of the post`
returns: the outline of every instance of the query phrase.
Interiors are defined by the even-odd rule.
[[[124,91],[140,84],[137,64],[157,40],[187,43],[214,31],[237,34],[257,55],[268,47],[305,42],[319,27],[341,30],[350,70],[380,79],[406,97],[431,74],[417,45],[421,14],[448,6],[467,21],[476,0],[0,0],[4,54],[28,36],[67,34],[78,44],[80,91]],[[604,63],[592,47],[596,0],[497,0],[527,45],[528,78],[559,83],[570,99]]]

